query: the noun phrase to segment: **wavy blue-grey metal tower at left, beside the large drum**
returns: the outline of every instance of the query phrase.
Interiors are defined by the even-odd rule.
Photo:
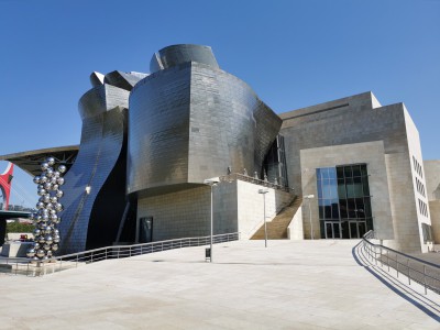
[[[87,116],[82,118],[81,143],[76,162],[65,176],[66,185],[63,187],[66,191],[63,198],[65,210],[59,224],[62,234],[59,253],[84,251],[90,245],[88,241],[106,241],[111,244],[116,239],[125,202],[123,185],[119,190],[116,187],[106,188],[116,196],[111,204],[113,210],[111,217],[102,219],[99,212],[94,212],[94,210],[109,207],[107,202],[102,205],[97,200],[99,195],[106,193],[101,190],[110,180],[110,176],[118,176],[120,180],[125,178],[124,166],[119,173],[114,173],[114,168],[118,162],[125,163],[123,146],[127,107],[124,105],[128,105],[128,96],[127,90],[103,85],[92,88],[81,98],[80,112]],[[121,107],[117,106],[108,110],[110,105]],[[91,116],[96,112],[97,114]],[[89,193],[86,191],[86,187],[90,187]],[[106,228],[101,230],[99,238],[96,234],[95,237],[89,234],[89,228],[96,227]]]

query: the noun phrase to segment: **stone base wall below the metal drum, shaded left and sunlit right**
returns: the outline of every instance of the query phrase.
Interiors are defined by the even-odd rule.
[[[249,239],[264,222],[264,187],[234,180],[222,182],[213,191],[213,233],[240,232]],[[266,220],[293,200],[293,195],[267,188]],[[210,233],[210,187],[140,198],[138,218],[153,217],[153,240],[204,237]]]

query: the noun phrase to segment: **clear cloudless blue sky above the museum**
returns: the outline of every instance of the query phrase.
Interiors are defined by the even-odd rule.
[[[182,43],[211,46],[277,113],[369,90],[404,102],[440,158],[439,0],[0,0],[0,155],[78,144],[91,72],[148,73]],[[14,185],[31,206],[32,178]]]

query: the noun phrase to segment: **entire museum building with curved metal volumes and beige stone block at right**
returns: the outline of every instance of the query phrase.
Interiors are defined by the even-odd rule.
[[[265,189],[270,239],[440,242],[440,161],[424,162],[404,103],[364,92],[275,113],[199,45],[90,80],[79,146],[0,157],[32,175],[47,155],[69,168],[61,253],[208,235],[212,177],[215,234],[261,238]]]

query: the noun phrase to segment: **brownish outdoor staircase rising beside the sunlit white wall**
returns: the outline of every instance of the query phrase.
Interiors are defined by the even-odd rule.
[[[268,240],[287,239],[287,227],[290,224],[292,218],[294,218],[296,211],[301,206],[301,204],[302,197],[296,196],[288,206],[283,208],[278,212],[278,215],[276,215],[276,217],[272,219],[272,221],[266,222]],[[251,240],[264,240],[264,223],[251,237]]]

